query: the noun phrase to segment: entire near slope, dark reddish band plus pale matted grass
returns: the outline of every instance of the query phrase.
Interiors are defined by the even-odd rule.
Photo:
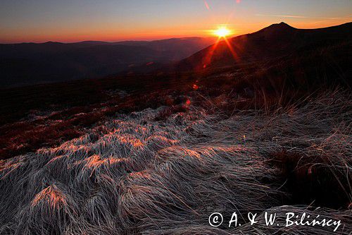
[[[176,76],[1,90],[0,155],[17,157],[0,162],[0,234],[238,234],[208,227],[216,210],[308,210],[350,233],[348,43]],[[273,232],[253,228],[241,231]]]

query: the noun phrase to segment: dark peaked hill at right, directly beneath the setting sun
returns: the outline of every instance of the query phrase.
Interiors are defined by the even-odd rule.
[[[314,30],[301,30],[286,23],[279,23],[258,32],[229,39],[234,54],[227,43],[222,41],[216,47],[212,45],[182,60],[178,66],[183,69],[196,69],[263,61],[299,51],[306,52],[307,49],[351,42],[351,36],[352,23]]]

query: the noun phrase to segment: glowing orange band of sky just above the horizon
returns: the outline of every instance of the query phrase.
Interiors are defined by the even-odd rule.
[[[289,20],[282,20],[288,23],[294,28],[310,29],[310,28],[325,28],[334,25],[341,25],[348,23],[348,20],[334,20],[330,22],[306,22],[306,23],[290,23]],[[227,25],[227,28],[232,30],[233,37],[237,35],[244,35],[251,32],[256,32],[262,28],[265,28],[272,23],[280,23],[282,21],[263,22],[256,25],[248,25],[247,27],[237,27],[234,24],[218,24]],[[81,42],[86,40],[92,41],[106,41],[106,42],[118,42],[125,40],[163,40],[172,37],[215,37],[210,31],[218,28],[218,25],[213,25],[211,28],[204,28],[203,30],[189,29],[185,30],[183,27],[180,29],[172,28],[169,30],[164,29],[153,29],[153,30],[141,30],[139,32],[115,32],[114,30],[88,30],[77,32],[76,30],[62,30],[55,33],[51,32],[35,32],[23,33],[16,35],[15,33],[8,35],[7,37],[1,37],[1,43],[20,43],[20,42]],[[199,25],[201,28],[201,25]]]

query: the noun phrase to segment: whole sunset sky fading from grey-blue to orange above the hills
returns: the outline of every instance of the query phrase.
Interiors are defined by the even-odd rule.
[[[352,21],[352,0],[1,0],[0,43],[160,40],[233,35],[284,21],[322,28]]]

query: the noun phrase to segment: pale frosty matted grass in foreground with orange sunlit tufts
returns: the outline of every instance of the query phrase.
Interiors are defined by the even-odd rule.
[[[165,108],[146,109],[3,160],[0,234],[272,234],[263,224],[213,228],[208,216],[306,210],[282,207],[292,193],[282,181],[285,164],[313,176],[326,170],[351,202],[351,99],[330,96],[230,118],[190,107],[156,121]],[[341,234],[352,231],[348,207],[319,213],[341,219]],[[285,232],[333,234],[279,228]]]

